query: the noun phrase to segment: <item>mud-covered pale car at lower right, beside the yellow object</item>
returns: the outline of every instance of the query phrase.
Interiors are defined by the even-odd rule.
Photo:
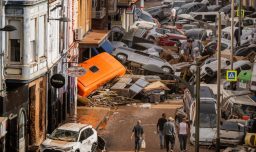
[[[245,120],[228,119],[220,127],[220,143],[222,146],[240,145],[245,135]]]

